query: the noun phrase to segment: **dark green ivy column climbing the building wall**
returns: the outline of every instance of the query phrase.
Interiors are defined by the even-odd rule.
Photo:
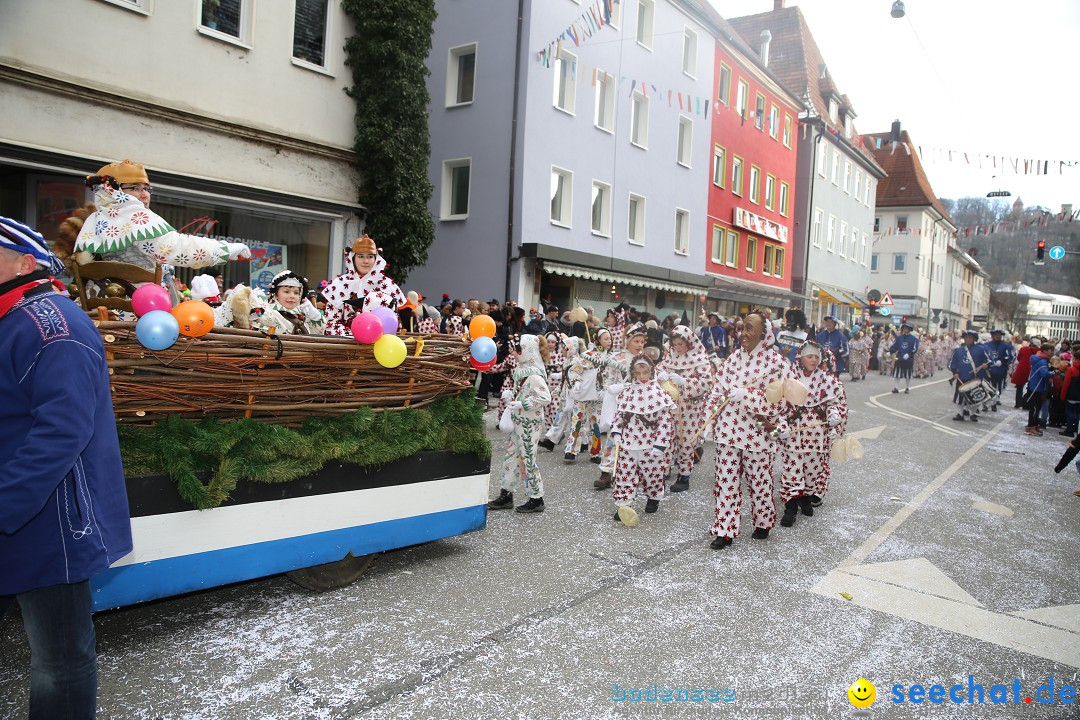
[[[355,35],[346,65],[356,103],[356,163],[367,234],[383,248],[389,273],[403,283],[423,264],[435,237],[428,201],[431,142],[424,62],[431,51],[434,0],[345,0]]]

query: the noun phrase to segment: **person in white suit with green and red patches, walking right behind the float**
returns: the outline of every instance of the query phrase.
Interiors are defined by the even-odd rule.
[[[528,500],[515,507],[518,513],[542,513],[543,478],[537,464],[537,440],[543,422],[543,408],[551,403],[544,366],[548,364],[548,341],[536,335],[523,336],[517,356],[517,367],[511,372],[513,399],[507,404],[513,429],[507,440],[507,452],[502,459],[502,481],[499,497],[490,501],[489,510],[513,506],[513,488],[525,484]]]

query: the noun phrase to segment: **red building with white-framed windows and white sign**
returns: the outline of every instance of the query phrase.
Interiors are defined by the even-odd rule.
[[[782,310],[792,293],[799,112],[768,69],[769,43],[754,53],[725,21],[714,69],[713,174],[705,271],[721,311]],[[724,32],[720,33],[721,36]]]

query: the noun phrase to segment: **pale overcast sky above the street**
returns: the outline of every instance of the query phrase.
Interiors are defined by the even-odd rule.
[[[712,0],[725,17],[772,9],[773,0]],[[940,198],[1009,190],[1025,205],[1080,208],[1080,1],[787,0],[798,5],[861,133],[899,119],[923,149]],[[1049,176],[939,161],[930,148],[1077,166]],[[1023,163],[1021,163],[1023,166]],[[997,174],[997,177],[994,177]]]

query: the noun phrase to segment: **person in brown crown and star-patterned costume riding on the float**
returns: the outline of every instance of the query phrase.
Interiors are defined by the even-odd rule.
[[[323,290],[326,298],[324,335],[352,337],[352,318],[382,305],[396,311],[405,304],[405,294],[386,274],[387,261],[375,241],[363,235],[345,250],[348,270]]]

